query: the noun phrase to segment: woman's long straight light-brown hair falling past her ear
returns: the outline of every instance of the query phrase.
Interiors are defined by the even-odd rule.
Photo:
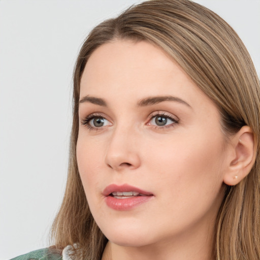
[[[80,80],[86,62],[102,44],[116,39],[147,41],[178,62],[217,105],[228,137],[251,127],[257,146],[251,172],[226,193],[216,222],[215,257],[260,258],[260,83],[236,32],[214,12],[189,0],[153,0],[132,6],[96,26],[79,52],[74,70],[74,109],[67,187],[52,236],[63,248],[76,244],[79,258],[101,259],[106,237],[88,208],[76,160]]]

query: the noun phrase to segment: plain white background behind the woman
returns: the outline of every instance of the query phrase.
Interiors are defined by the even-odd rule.
[[[0,259],[48,246],[66,183],[72,71],[89,30],[135,0],[0,0]],[[201,0],[260,74],[260,0]]]

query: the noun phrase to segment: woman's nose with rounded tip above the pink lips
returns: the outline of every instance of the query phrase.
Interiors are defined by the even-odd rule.
[[[133,129],[116,129],[108,144],[105,163],[115,171],[134,170],[140,167],[138,135]]]

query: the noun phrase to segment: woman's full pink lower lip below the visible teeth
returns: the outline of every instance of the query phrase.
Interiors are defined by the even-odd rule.
[[[153,196],[137,196],[126,199],[116,199],[112,196],[107,196],[105,201],[108,207],[114,210],[131,210],[145,202],[148,202]]]

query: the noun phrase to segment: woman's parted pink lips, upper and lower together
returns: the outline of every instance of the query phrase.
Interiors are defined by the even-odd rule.
[[[126,198],[126,199],[117,199],[114,198],[113,196],[110,196],[110,194],[115,191],[120,191],[120,192],[136,191],[138,193],[142,193],[144,196],[136,196],[136,197]],[[151,198],[154,197],[151,192],[139,189],[137,187],[128,184],[124,184],[124,185],[111,184],[104,189],[102,194],[106,196],[105,202],[108,207],[120,211],[131,210],[140,204],[148,202]]]

